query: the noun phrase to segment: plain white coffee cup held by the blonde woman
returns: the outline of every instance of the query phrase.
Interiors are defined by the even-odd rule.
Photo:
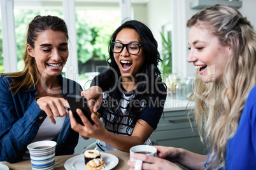
[[[141,170],[143,161],[139,159],[133,159],[131,157],[132,154],[146,154],[146,155],[156,157],[157,148],[152,147],[150,145],[136,145],[130,148],[130,160],[132,162],[136,162],[134,166],[134,170]]]

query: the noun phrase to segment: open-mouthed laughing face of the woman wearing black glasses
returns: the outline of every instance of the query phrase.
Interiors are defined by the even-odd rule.
[[[125,28],[118,32],[115,42],[122,42],[123,44],[134,42],[141,44],[141,39],[136,30]],[[145,57],[143,55],[143,48],[141,48],[137,55],[131,55],[124,48],[122,52],[114,53],[114,58],[122,75],[122,80],[125,81],[126,79],[131,79],[131,76],[134,77],[138,73],[144,63]]]

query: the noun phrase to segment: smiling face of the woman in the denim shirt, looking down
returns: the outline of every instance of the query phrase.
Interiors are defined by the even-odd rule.
[[[60,75],[68,60],[68,39],[64,32],[45,30],[38,34],[34,48],[27,44],[29,55],[34,57],[39,75]]]

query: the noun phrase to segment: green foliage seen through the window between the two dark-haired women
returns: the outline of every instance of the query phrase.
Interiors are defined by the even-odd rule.
[[[76,33],[78,35],[78,58],[82,63],[97,56],[108,56],[108,41],[113,30],[120,25],[117,10],[77,10]],[[92,27],[92,25],[94,25]],[[80,36],[83,36],[81,38]]]

